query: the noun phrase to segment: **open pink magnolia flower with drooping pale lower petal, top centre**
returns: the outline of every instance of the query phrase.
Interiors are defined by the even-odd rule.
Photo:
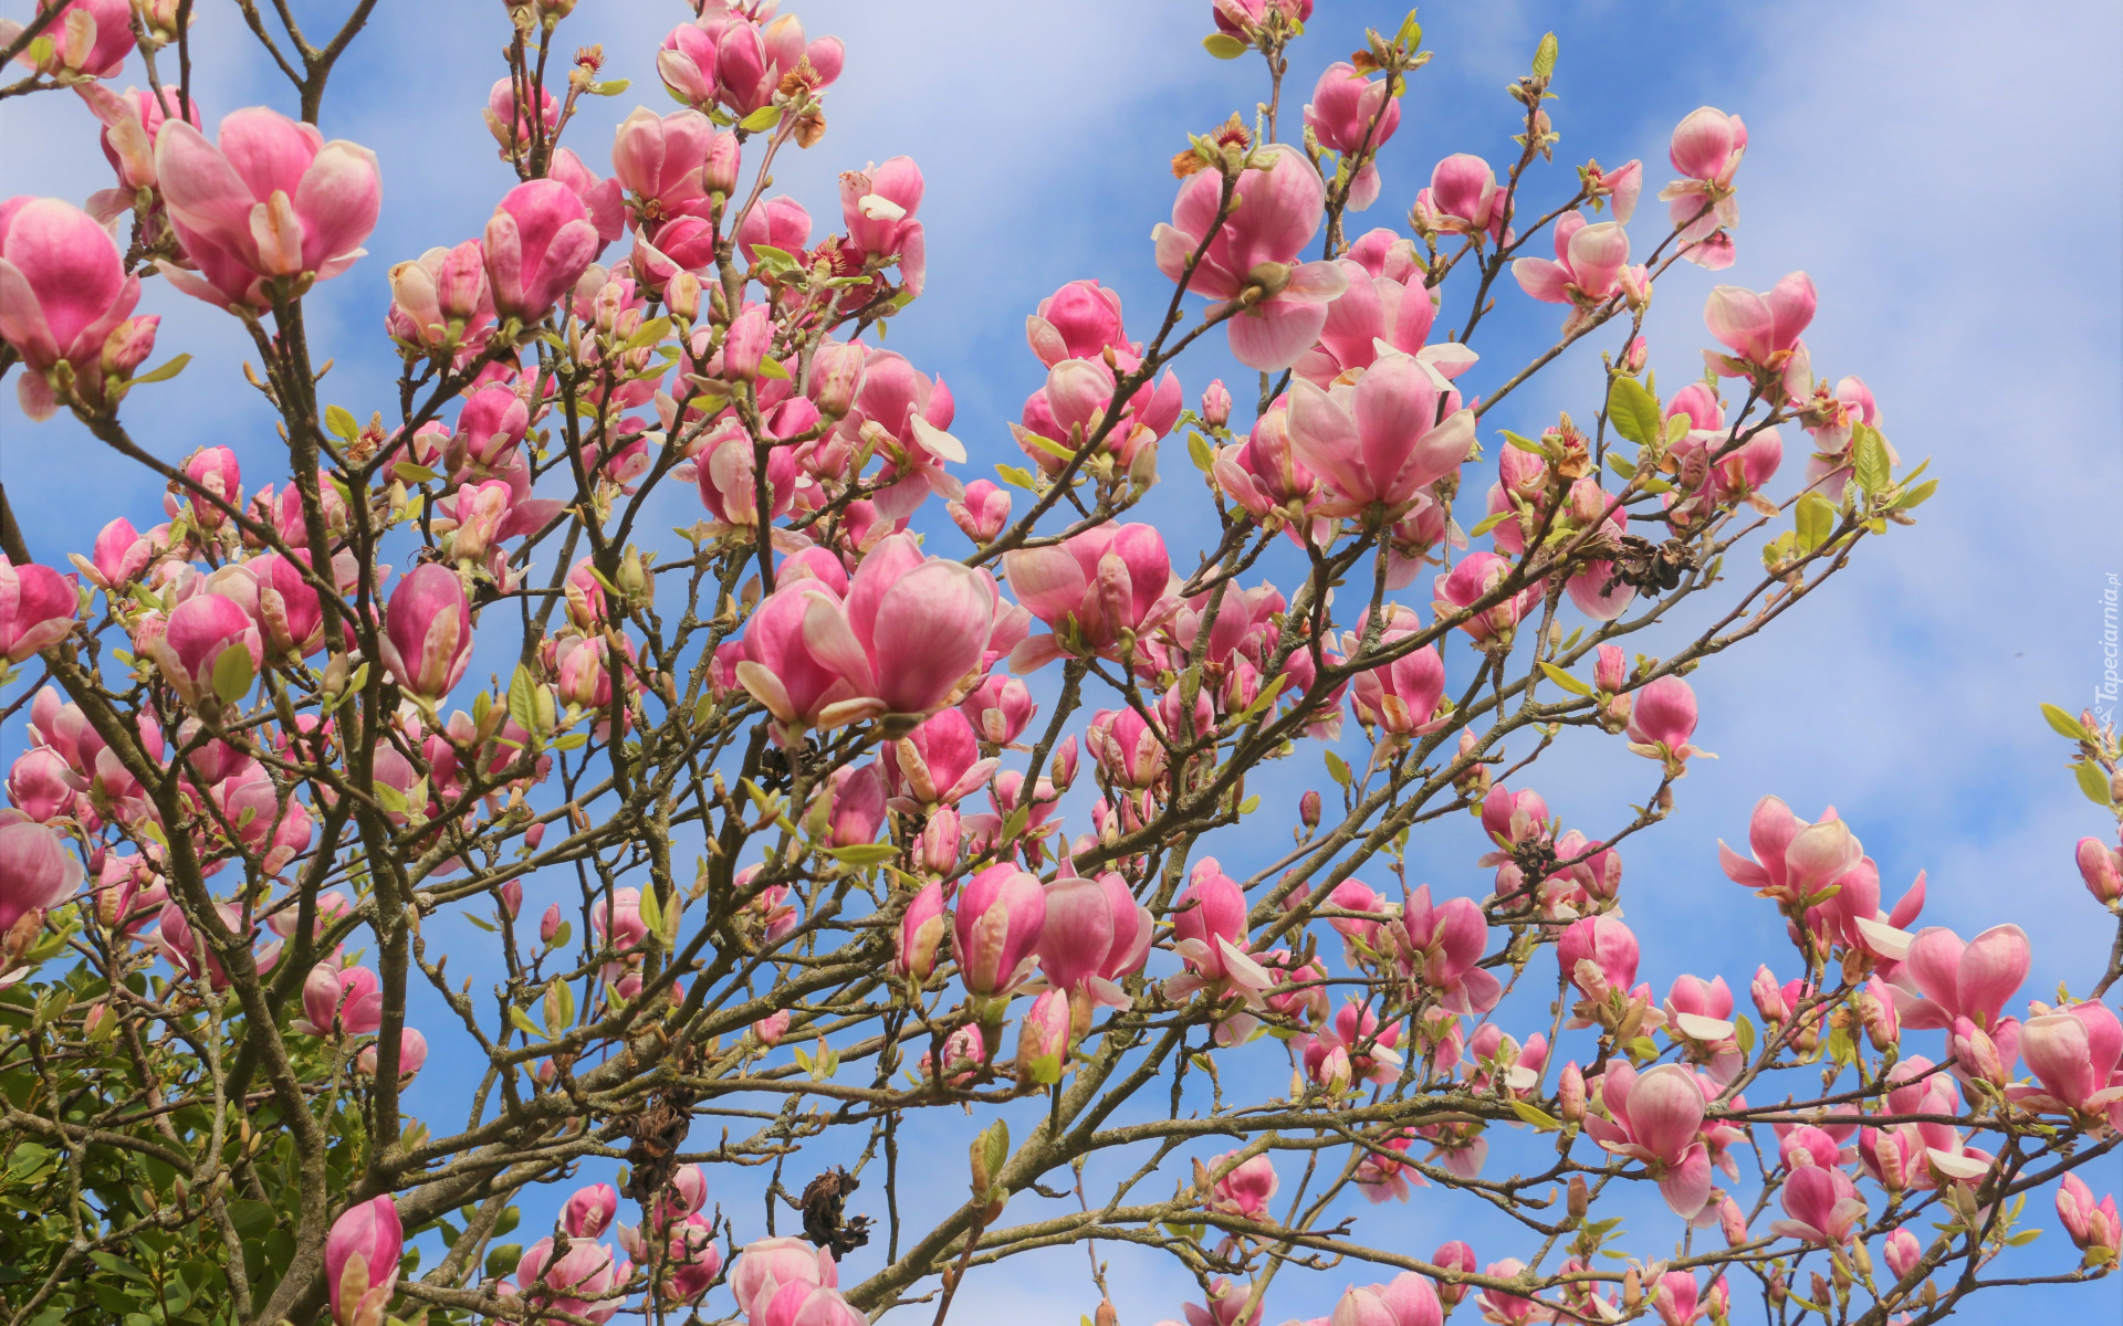
[[[1225,325],[1231,354],[1248,369],[1274,373],[1297,363],[1318,337],[1327,301],[1348,286],[1348,276],[1335,263],[1297,263],[1325,216],[1325,180],[1287,142],[1267,144],[1253,159],[1263,155],[1267,168],[1238,176],[1240,204],[1212,238],[1223,176],[1210,170],[1180,185],[1172,225],[1159,223],[1151,238],[1159,272],[1197,295],[1240,303]],[[1204,238],[1208,248],[1189,274],[1187,259]]]

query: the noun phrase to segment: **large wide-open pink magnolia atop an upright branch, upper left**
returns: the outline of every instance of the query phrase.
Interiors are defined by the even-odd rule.
[[[274,291],[299,295],[346,272],[367,252],[361,242],[382,210],[376,153],[325,142],[316,125],[265,106],[225,117],[217,142],[166,121],[155,134],[155,174],[170,227],[200,269],[159,261],[161,274],[223,308],[272,308]]]

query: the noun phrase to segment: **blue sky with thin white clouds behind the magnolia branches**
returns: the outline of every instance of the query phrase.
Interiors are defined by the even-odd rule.
[[[195,81],[208,119],[257,102],[291,108],[231,11],[202,8]],[[374,146],[384,172],[372,257],[310,301],[312,344],[338,356],[327,397],[363,418],[389,403],[384,272],[478,233],[512,182],[480,123],[484,89],[501,72],[497,8],[382,6],[357,45],[367,64],[327,98],[327,136]],[[590,106],[573,129],[577,151],[603,170],[609,127],[626,110],[669,108],[650,55],[677,6],[599,8],[584,4],[571,21],[577,40],[603,38],[609,74],[635,78],[631,93]],[[832,129],[779,172],[777,191],[807,202],[824,233],[836,223],[834,172],[896,153],[921,161],[930,289],[887,344],[951,384],[953,431],[974,469],[1015,460],[1004,420],[1042,378],[1023,348],[1023,316],[1064,280],[1098,276],[1121,291],[1142,335],[1170,291],[1149,246],[1151,225],[1172,204],[1166,161],[1185,129],[1250,110],[1261,95],[1257,66],[1199,51],[1206,2],[813,0],[796,13],[813,36],[843,36],[849,64],[828,98]],[[1361,25],[1391,30],[1399,15],[1323,2],[1293,53],[1291,110],[1329,59],[1359,45]],[[1698,104],[1743,115],[1751,142],[1739,176],[1739,263],[1720,280],[1764,289],[1794,267],[1811,272],[1822,291],[1807,333],[1815,369],[1864,376],[1902,456],[1932,456],[1945,479],[1917,528],[1894,530],[1781,630],[1698,673],[1698,745],[1722,760],[1681,785],[1673,823],[1626,853],[1624,897],[1645,938],[1645,978],[1664,989],[1684,970],[1722,972],[1743,989],[1754,957],[1781,950],[1775,914],[1715,866],[1715,838],[1743,838],[1747,808],[1777,791],[1807,817],[1832,802],[1879,859],[1889,897],[1930,870],[1926,921],[1962,934],[2006,919],[2027,927],[2036,970],[2023,997],[2059,978],[2083,989],[2110,931],[2078,887],[2070,849],[2102,832],[2104,817],[2070,787],[2061,743],[2036,704],[2089,702],[2100,677],[2098,594],[2108,573],[2123,571],[2119,11],[1461,0],[1425,6],[1422,21],[1437,57],[1408,93],[1382,159],[1384,195],[1363,225],[1395,225],[1431,163],[1452,151],[1503,159],[1516,106],[1501,87],[1554,28],[1563,98],[1552,115],[1563,142],[1548,189],[1565,191],[1563,163],[1586,157],[1609,165],[1643,157],[1656,189],[1681,115]],[[140,81],[127,74],[121,83]],[[79,202],[104,187],[93,123],[72,98],[11,102],[0,117],[8,142],[0,195]],[[1647,199],[1645,216],[1656,210]],[[1707,342],[1709,284],[1696,272],[1660,282],[1650,339],[1654,367],[1675,382],[1694,373]],[[136,435],[166,458],[234,446],[253,484],[278,479],[267,469],[270,416],[236,373],[244,344],[234,320],[153,282],[144,310],[166,314],[157,359],[191,350],[197,361],[134,397]],[[1503,291],[1499,316],[1505,325],[1482,346],[1478,390],[1554,329],[1554,310],[1516,291]],[[1189,397],[1219,373],[1242,380],[1221,350],[1180,365]],[[1514,418],[1490,422],[1531,431],[1556,409],[1584,416],[1594,373],[1563,365],[1501,412]],[[117,509],[138,524],[155,518],[157,486],[106,460],[72,422],[28,424],[4,395],[0,469],[40,560],[85,552]],[[1788,454],[1796,450],[1788,441]],[[1180,549],[1199,530],[1191,516],[1199,501],[1183,501],[1191,488],[1178,479],[1191,482],[1191,471],[1178,456],[1166,475],[1153,516]],[[681,520],[692,513],[677,503],[664,524]],[[938,549],[953,547],[955,535],[938,539]],[[19,745],[19,732],[0,736],[0,753]],[[1590,832],[1641,798],[1639,770],[1624,783],[1601,777],[1616,760],[1611,745],[1565,747],[1535,785],[1567,823]],[[1478,851],[1473,832],[1454,825],[1418,849],[1418,861],[1446,893],[1482,893]],[[1444,1237],[1431,1233],[1435,1214],[1420,1199],[1405,1220],[1410,1250]],[[2036,1248],[2055,1264],[2057,1231]],[[1478,1250],[1507,1252],[1480,1241]],[[1034,1305],[1049,1292],[1076,1303],[1076,1258],[1053,1267],[1051,1288],[1028,1273],[968,1307],[1000,1311],[1004,1301]],[[1174,1311],[1178,1284],[1161,1273],[1123,1284],[1136,1296],[1121,1303],[1123,1320]],[[2112,1290],[2087,1290],[2057,1311],[2083,1311],[2098,1294],[2115,1303]],[[1270,1320],[1329,1303],[1278,1298]],[[1987,1322],[2006,1311],[2015,1309],[1991,1303],[1964,1315]]]

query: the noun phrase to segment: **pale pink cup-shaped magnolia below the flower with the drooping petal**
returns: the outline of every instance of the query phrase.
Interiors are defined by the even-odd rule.
[[[1291,384],[1291,448],[1333,492],[1323,509],[1399,516],[1422,488],[1459,471],[1473,448],[1473,409],[1414,354],[1380,354],[1352,386]]]

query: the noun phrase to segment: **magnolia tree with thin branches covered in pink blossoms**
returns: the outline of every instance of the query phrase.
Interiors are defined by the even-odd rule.
[[[1193,1326],[1936,1322],[2115,1269],[2119,959],[2023,1001],[2019,927],[1921,927],[1921,874],[1889,904],[1851,825],[1766,796],[1718,849],[1790,940],[1756,1016],[1637,982],[1622,853],[1709,757],[1688,677],[1936,484],[1815,376],[1805,274],[1698,276],[1737,115],[1688,115],[1639,210],[1641,161],[1552,168],[1546,38],[1512,146],[1352,233],[1414,17],[1299,117],[1310,0],[1219,0],[1265,100],[1170,127],[1172,216],[1110,259],[1170,278],[1149,316],[1098,276],[1028,316],[1008,450],[883,348],[917,165],[811,199],[834,233],[769,193],[839,40],[675,13],[679,108],[607,157],[569,134],[624,91],[594,17],[495,6],[520,182],[363,261],[389,161],[321,125],[372,4],[329,40],[248,0],[251,36],[189,0],[0,34],[0,95],[79,95],[115,170],[0,206],[0,367],[168,484],[45,564],[0,524],[8,1322],[940,1324],[1070,1245],[1040,1320],[1115,1324],[1159,1254]],[[263,42],[299,119],[217,106],[208,38]],[[306,299],[384,278],[397,390],[338,401]],[[1654,284],[1711,342],[1664,380]],[[146,367],[140,308],[187,299],[251,337],[272,473],[146,441],[185,356]],[[1497,369],[1514,301],[1554,316]],[[1189,395],[1197,344],[1259,384]],[[1573,348],[1599,390],[1526,418]],[[1202,547],[1132,520],[1155,486]],[[2112,806],[2115,732],[2049,717]],[[1550,815],[1569,738],[1633,817]],[[1488,855],[1412,878],[1465,817]],[[2110,840],[2076,866],[2117,912]],[[1516,1235],[1410,1250],[1376,1203],[1414,1188]],[[2066,1237],[2008,1254],[2030,1199]]]

